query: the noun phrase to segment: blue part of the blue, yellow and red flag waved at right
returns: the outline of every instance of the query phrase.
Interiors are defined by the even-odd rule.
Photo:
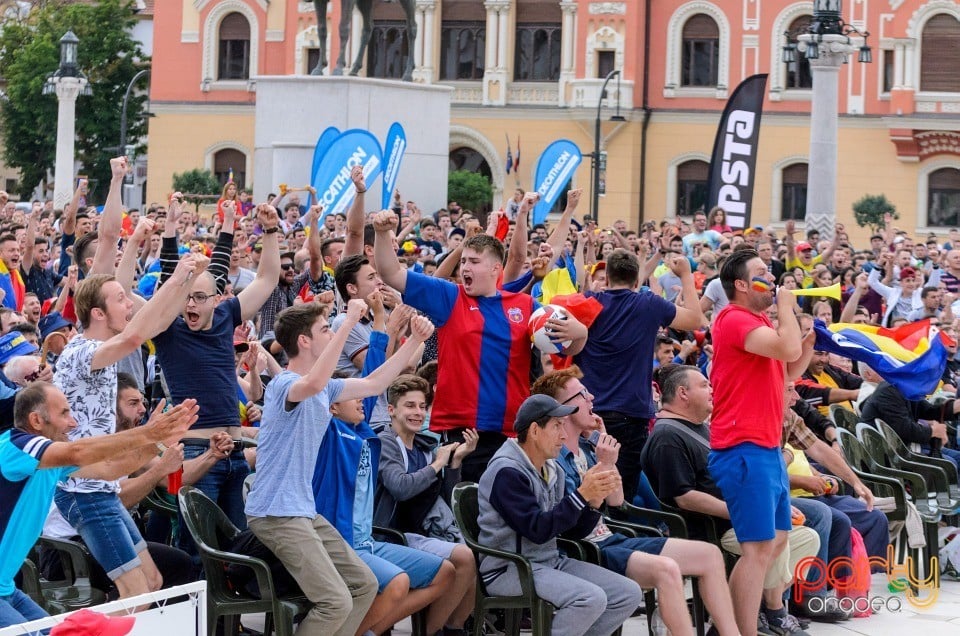
[[[947,349],[939,337],[934,337],[930,348],[916,358],[904,361],[883,350],[879,339],[884,336],[849,328],[830,331],[821,320],[815,320],[813,325],[817,334],[814,345],[817,351],[836,353],[869,364],[881,378],[900,389],[908,400],[922,400],[933,393],[947,366]]]

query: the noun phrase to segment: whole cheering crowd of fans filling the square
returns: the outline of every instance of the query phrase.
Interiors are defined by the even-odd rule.
[[[126,160],[111,167],[102,213],[82,182],[64,210],[0,193],[0,627],[46,615],[17,583],[41,534],[82,542],[108,596],[201,577],[182,514],[141,507],[176,505],[180,482],[308,599],[298,633],[381,634],[425,610],[427,634],[464,634],[497,620],[475,615],[478,586],[521,592],[512,562],[464,542],[451,492],[474,482],[479,543],[529,560],[552,633],[609,634],[655,589],[666,629],[691,635],[684,577],[709,633],[815,633],[851,616],[797,563],[885,557],[892,532],[830,406],[960,458],[960,401],[814,351],[814,319],[926,321],[954,343],[956,231],[888,217],[854,246],[842,224],[734,231],[719,208],[601,228],[579,190],[532,227],[537,195],[517,190],[484,227],[399,193],[370,212],[359,168],[346,214],[228,183],[205,224],[180,193],[125,211]],[[541,351],[528,323],[550,303],[557,351]],[[689,538],[629,536],[624,504],[689,515]]]

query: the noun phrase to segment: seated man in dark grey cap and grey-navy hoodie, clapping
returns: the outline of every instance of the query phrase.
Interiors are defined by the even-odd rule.
[[[600,566],[568,559],[557,536],[585,537],[596,526],[595,506],[620,488],[615,470],[594,466],[580,487],[564,494],[556,462],[566,435],[559,418],[575,413],[548,395],[531,395],[517,411],[515,439],[504,442],[480,478],[480,543],[518,552],[530,560],[537,594],[557,608],[554,635],[609,634],[640,604],[640,586]],[[519,595],[510,563],[492,557],[480,563],[491,594]]]

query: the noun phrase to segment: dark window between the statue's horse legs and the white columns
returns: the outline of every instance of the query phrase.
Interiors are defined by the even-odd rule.
[[[444,0],[440,24],[440,80],[480,80],[486,63],[487,11],[476,0]]]

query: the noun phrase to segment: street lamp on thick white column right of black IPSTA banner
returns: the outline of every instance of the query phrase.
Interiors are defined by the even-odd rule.
[[[854,51],[857,61],[870,63],[870,33],[844,22],[841,0],[814,0],[813,19],[799,31],[787,32],[783,61],[795,62],[802,53],[810,62],[813,79],[810,108],[810,163],[807,177],[807,229],[833,238],[837,202],[837,128],[840,66]],[[863,38],[858,47],[851,36]],[[796,39],[796,44],[793,39]]]

